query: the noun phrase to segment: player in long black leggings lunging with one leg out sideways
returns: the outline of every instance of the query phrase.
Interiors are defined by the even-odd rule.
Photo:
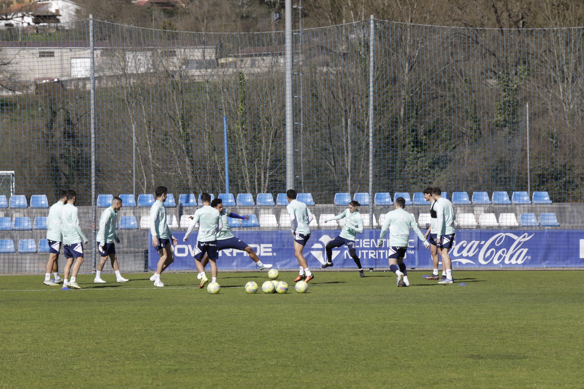
[[[349,248],[349,254],[352,256],[353,261],[355,261],[357,264],[357,268],[359,268],[359,276],[361,278],[365,276],[363,273],[363,267],[361,266],[361,261],[359,260],[357,252],[355,251],[355,235],[357,232],[359,232],[359,234],[363,233],[363,219],[359,213],[360,206],[361,204],[359,204],[359,202],[353,200],[349,203],[349,208],[344,210],[343,213],[333,217],[332,219],[325,220],[326,223],[329,220],[339,220],[344,217],[345,225],[343,225],[343,230],[340,231],[340,235],[326,244],[326,258],[328,261],[326,261],[326,263],[322,265],[321,268],[328,268],[329,266],[332,266],[333,248],[346,245],[347,248]]]

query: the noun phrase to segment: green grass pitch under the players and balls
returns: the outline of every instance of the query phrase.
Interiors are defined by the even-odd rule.
[[[308,293],[246,294],[267,273],[61,291],[0,277],[0,387],[582,387],[579,271],[317,272]],[[459,286],[464,282],[467,286]]]

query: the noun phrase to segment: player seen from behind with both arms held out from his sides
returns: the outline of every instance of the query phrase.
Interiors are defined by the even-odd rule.
[[[398,276],[398,286],[409,286],[408,272],[404,263],[405,251],[408,248],[409,242],[409,229],[412,228],[413,232],[418,235],[420,241],[424,242],[426,248],[430,247],[430,244],[420,232],[418,224],[416,224],[415,218],[408,212],[404,210],[405,199],[404,197],[398,197],[395,199],[394,210],[385,214],[385,222],[383,227],[381,227],[381,233],[379,235],[379,240],[377,241],[377,246],[383,246],[383,237],[387,229],[390,230],[390,245],[389,245],[389,263],[390,269]]]

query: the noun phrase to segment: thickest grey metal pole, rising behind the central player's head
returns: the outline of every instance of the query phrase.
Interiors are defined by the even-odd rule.
[[[284,99],[286,102],[286,189],[294,187],[294,101],[292,92],[292,0],[286,0],[284,9],[286,19],[286,77],[284,80]]]

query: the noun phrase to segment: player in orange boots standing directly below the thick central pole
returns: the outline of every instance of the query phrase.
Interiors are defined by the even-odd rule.
[[[314,279],[314,275],[308,269],[308,263],[302,251],[306,242],[310,239],[309,224],[314,219],[314,215],[307,208],[306,204],[296,200],[296,190],[288,189],[286,199],[289,203],[286,209],[288,210],[288,214],[290,214],[290,227],[292,228],[292,236],[294,237],[294,256],[296,256],[298,265],[300,265],[300,275],[296,277],[294,282],[300,280],[308,282]]]

